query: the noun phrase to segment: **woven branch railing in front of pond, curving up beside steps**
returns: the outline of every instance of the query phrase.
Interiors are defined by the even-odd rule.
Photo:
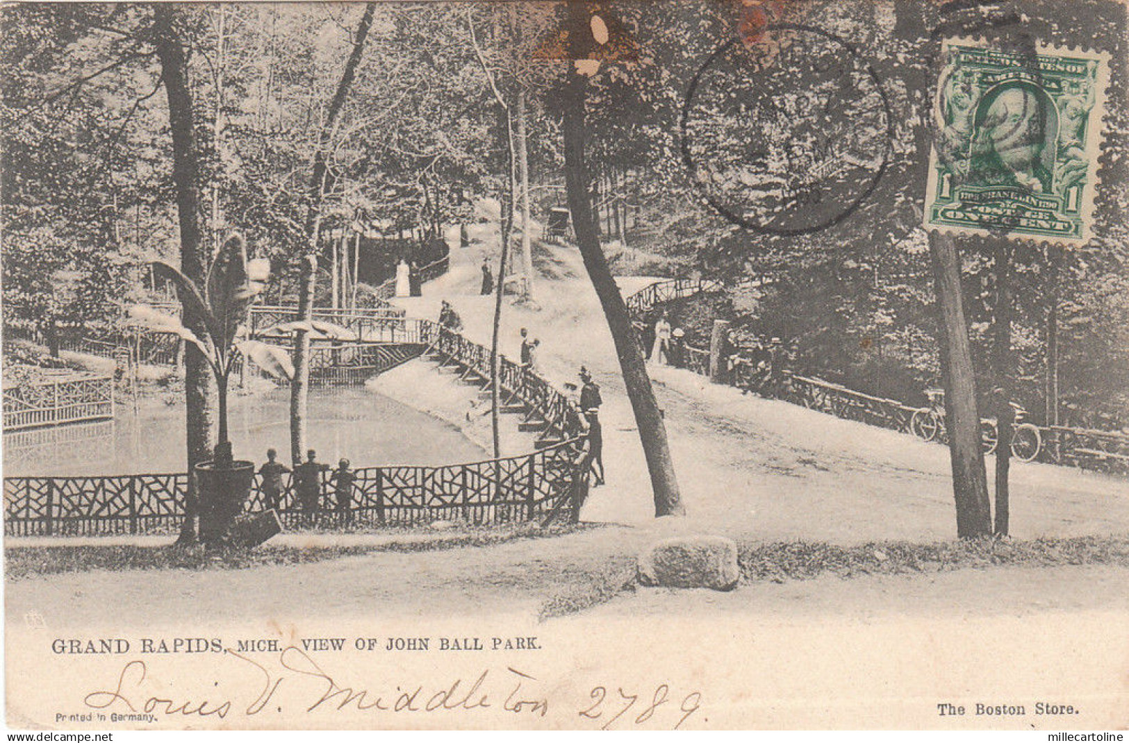
[[[441,358],[489,378],[490,352],[430,321],[401,320]],[[580,420],[568,399],[528,369],[499,359],[500,387],[520,400],[559,436],[530,454],[445,466],[370,466],[355,470],[353,488],[339,501],[324,473],[316,500],[286,483],[266,504],[256,477],[245,509],[277,506],[289,527],[420,525],[435,521],[498,524],[577,522],[587,496],[588,458]],[[187,475],[5,478],[5,533],[100,535],[170,533],[184,518]]]

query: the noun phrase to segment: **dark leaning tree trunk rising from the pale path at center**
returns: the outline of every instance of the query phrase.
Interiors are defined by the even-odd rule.
[[[587,3],[578,0],[569,2],[569,50],[576,59],[583,49],[584,35],[588,29],[590,17]],[[576,230],[577,246],[584,259],[585,269],[592,279],[592,286],[599,297],[599,304],[607,318],[607,326],[615,343],[615,351],[623,373],[631,409],[634,412],[636,425],[639,428],[639,439],[642,443],[647,458],[647,470],[655,498],[655,515],[669,516],[685,513],[679,492],[679,482],[674,475],[674,462],[671,458],[669,445],[666,440],[666,427],[655,401],[655,391],[647,376],[639,341],[636,339],[627,305],[620,295],[615,279],[607,268],[607,260],[599,246],[595,216],[592,210],[592,198],[588,191],[590,178],[585,161],[584,148],[587,139],[585,128],[585,102],[587,98],[587,78],[581,75],[575,62],[569,63],[568,79],[563,96],[563,140],[564,140],[564,184],[568,193],[569,210],[572,212],[572,227]]]

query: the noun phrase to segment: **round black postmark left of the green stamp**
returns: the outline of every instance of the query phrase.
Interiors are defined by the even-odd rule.
[[[892,151],[893,117],[874,68],[828,32],[765,27],[723,44],[682,107],[682,158],[702,196],[732,222],[803,235],[846,219]]]

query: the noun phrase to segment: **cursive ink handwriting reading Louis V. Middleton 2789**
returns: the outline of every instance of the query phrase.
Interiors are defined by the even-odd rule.
[[[550,711],[550,700],[543,694],[530,691],[537,679],[515,667],[507,666],[501,681],[497,672],[484,670],[473,681],[455,679],[449,685],[426,688],[423,684],[400,684],[393,692],[378,692],[371,689],[345,685],[326,672],[303,649],[290,646],[278,656],[282,673],[269,670],[262,663],[246,655],[228,649],[227,655],[245,663],[256,672],[260,681],[247,692],[255,694],[238,703],[234,699],[173,699],[152,694],[146,691],[149,668],[145,661],[130,661],[122,666],[113,689],[90,691],[84,697],[84,702],[93,709],[113,709],[114,711],[148,713],[165,716],[194,716],[226,718],[228,715],[242,711],[253,717],[264,710],[282,711],[280,688],[286,682],[287,692],[301,699],[299,702],[306,713],[315,710],[330,711],[378,711],[378,713],[463,713],[472,710],[500,709],[508,714],[525,714],[533,717],[545,717]],[[303,683],[305,682],[305,683]],[[310,688],[313,684],[313,688]],[[502,685],[505,684],[505,685]],[[498,689],[501,689],[499,691]],[[502,693],[506,693],[505,698]],[[601,706],[605,702],[604,687],[594,687],[590,699],[577,713],[584,719],[603,718],[603,727],[607,728],[622,717],[639,699],[639,694],[628,694],[619,689],[622,701],[628,702],[614,716],[605,716]],[[240,694],[242,696],[242,694]],[[647,723],[659,708],[671,701],[667,684],[659,684],[650,698],[649,705],[633,718],[636,725]],[[674,727],[681,726],[700,706],[701,694],[697,691],[686,694],[680,710],[681,718]],[[609,705],[612,702],[609,701]],[[567,706],[566,706],[567,707]],[[619,707],[619,703],[616,703]],[[609,709],[609,713],[614,711]]]

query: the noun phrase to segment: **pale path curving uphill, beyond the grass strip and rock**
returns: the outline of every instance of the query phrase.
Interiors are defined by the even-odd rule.
[[[483,230],[484,231],[484,230]],[[448,298],[465,334],[488,343],[492,298],[474,296],[489,236],[452,252],[452,271],[425,297],[397,300],[434,316]],[[592,491],[586,521],[653,522],[647,471],[612,340],[577,252],[537,244],[539,309],[507,305],[502,352],[517,356],[518,330],[541,340],[550,382],[576,382],[580,365],[604,392],[607,486]],[[657,279],[618,279],[628,296]],[[435,282],[438,285],[439,282]],[[955,536],[948,451],[912,436],[841,420],[709,384],[691,372],[649,365],[666,417],[688,521],[710,531],[860,542]],[[989,478],[994,457],[988,457]],[[1019,539],[1129,531],[1129,481],[1040,463],[1012,465],[1012,533]]]

